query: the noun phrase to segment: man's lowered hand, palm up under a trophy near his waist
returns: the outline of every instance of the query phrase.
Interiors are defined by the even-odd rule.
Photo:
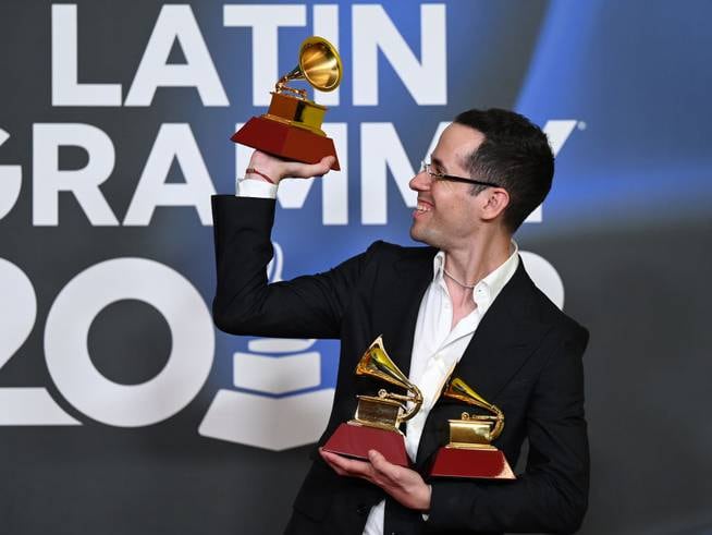
[[[402,506],[417,511],[430,510],[430,486],[416,471],[392,464],[376,450],[368,452],[368,461],[356,461],[319,448],[321,458],[339,475],[361,477],[378,485]]]

